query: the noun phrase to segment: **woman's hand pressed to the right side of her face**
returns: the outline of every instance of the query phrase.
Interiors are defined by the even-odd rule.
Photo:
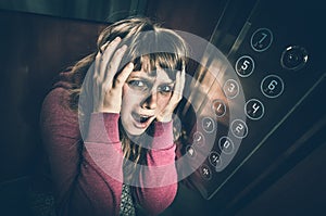
[[[167,103],[167,105],[163,109],[163,111],[156,116],[158,122],[171,122],[174,109],[178,105],[180,100],[183,99],[183,91],[185,87],[186,79],[185,67],[181,72],[177,72],[175,86],[173,90],[173,94]]]

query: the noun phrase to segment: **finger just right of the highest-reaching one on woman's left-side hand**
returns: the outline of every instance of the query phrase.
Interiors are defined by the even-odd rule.
[[[115,74],[117,73],[118,66],[121,64],[121,61],[123,59],[124,53],[126,52],[127,46],[124,45],[123,47],[118,48],[114,55],[112,56],[110,63],[106,66],[106,73],[104,77],[104,86],[109,86],[110,84],[113,84],[113,78]]]

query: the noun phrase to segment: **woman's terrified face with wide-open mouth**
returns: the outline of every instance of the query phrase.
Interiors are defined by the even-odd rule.
[[[167,105],[174,80],[161,67],[156,67],[155,75],[148,68],[131,72],[123,87],[121,120],[125,131],[131,136],[145,132]]]

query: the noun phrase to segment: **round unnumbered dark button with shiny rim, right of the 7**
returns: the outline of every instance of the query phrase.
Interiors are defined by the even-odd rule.
[[[280,64],[286,69],[301,69],[308,62],[308,52],[300,46],[288,47],[280,58]]]

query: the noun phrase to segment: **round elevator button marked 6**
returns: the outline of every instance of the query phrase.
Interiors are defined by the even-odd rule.
[[[262,80],[261,90],[267,98],[277,98],[283,93],[284,82],[278,76],[268,75]]]

